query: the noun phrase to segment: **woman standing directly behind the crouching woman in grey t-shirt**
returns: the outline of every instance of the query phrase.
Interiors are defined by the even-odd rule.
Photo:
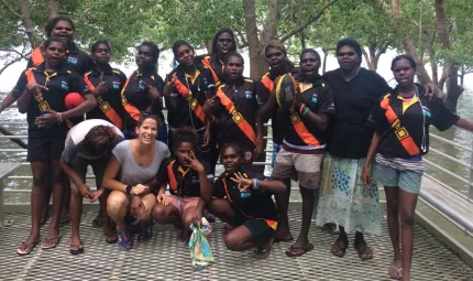
[[[125,139],[136,138],[135,127],[143,111],[152,111],[161,119],[157,139],[167,143],[167,129],[163,115],[163,78],[157,74],[160,47],[144,41],[138,47],[135,57],[138,69],[127,79],[121,99],[124,108],[123,133]]]

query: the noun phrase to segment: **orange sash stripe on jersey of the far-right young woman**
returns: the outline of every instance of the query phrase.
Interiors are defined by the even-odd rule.
[[[381,101],[381,107],[386,110],[386,119],[394,128],[397,139],[399,140],[403,148],[409,153],[409,155],[418,155],[420,153],[419,147],[417,147],[416,142],[407,132],[406,128],[400,125],[399,118],[389,105],[389,97],[391,95],[386,95]]]

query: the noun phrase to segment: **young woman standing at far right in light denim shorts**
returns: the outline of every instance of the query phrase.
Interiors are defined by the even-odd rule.
[[[369,119],[375,133],[363,167],[363,181],[370,188],[369,163],[375,158],[374,177],[384,185],[386,193],[387,225],[394,248],[388,273],[403,280],[410,280],[414,213],[425,170],[421,155],[429,149],[429,126],[443,131],[455,125],[473,131],[473,122],[451,112],[440,99],[431,100],[424,87],[414,83],[416,65],[407,54],[393,60],[391,69],[398,86],[381,99]],[[399,249],[399,215],[403,251]]]

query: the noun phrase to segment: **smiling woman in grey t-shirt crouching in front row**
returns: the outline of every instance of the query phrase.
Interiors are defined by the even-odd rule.
[[[132,225],[138,225],[138,241],[148,241],[153,236],[151,210],[156,196],[156,174],[163,160],[169,156],[167,145],[156,140],[161,119],[154,115],[141,115],[136,139],[120,142],[103,175],[103,185],[111,191],[107,199],[107,213],[117,224],[120,250],[130,250]],[[133,223],[133,224],[132,224]]]

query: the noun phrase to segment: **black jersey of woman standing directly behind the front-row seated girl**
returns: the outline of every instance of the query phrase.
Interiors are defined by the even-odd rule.
[[[204,106],[204,102],[207,99],[207,90],[215,87],[210,69],[204,67],[202,69],[197,71],[194,77],[185,73],[179,73],[180,72],[177,69],[174,69],[166,76],[166,83],[170,82],[173,76],[178,77],[180,83],[183,83],[193,93],[193,97],[197,102],[200,106]],[[167,109],[167,122],[170,128],[178,129],[188,126],[195,130],[199,130],[206,126],[190,108],[190,104],[187,98],[178,94],[177,90],[176,93],[170,93],[170,98],[175,99],[177,104],[176,109],[172,107]]]

